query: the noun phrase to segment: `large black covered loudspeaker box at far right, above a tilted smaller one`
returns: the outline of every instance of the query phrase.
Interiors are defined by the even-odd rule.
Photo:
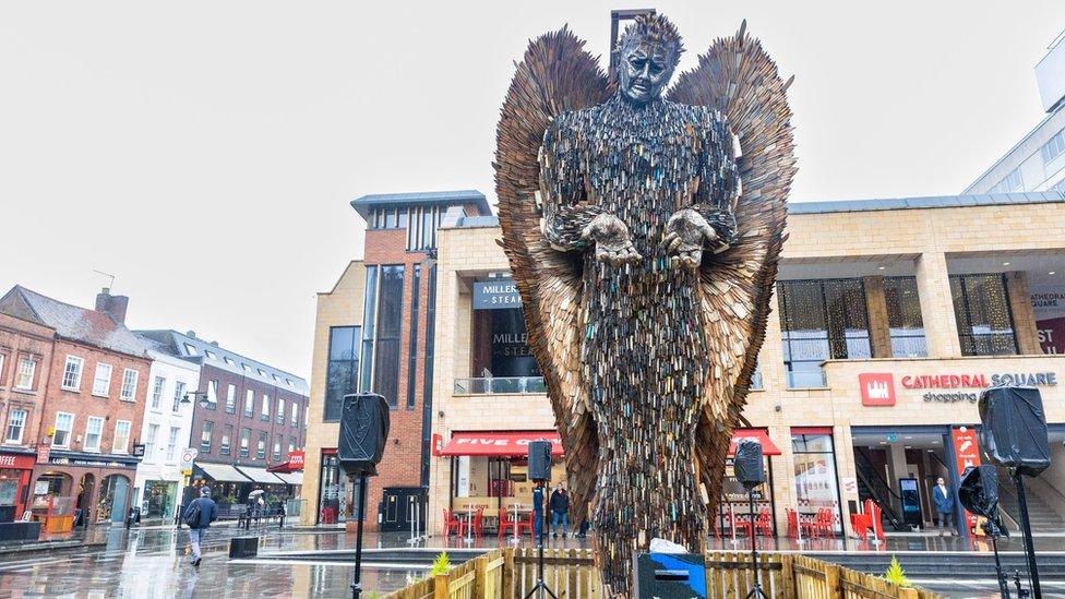
[[[1022,475],[1050,466],[1046,412],[1036,387],[1002,386],[980,394],[980,447],[989,462]]]

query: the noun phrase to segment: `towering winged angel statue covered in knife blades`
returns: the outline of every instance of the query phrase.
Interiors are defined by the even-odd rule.
[[[565,28],[532,41],[495,169],[575,517],[590,505],[603,583],[625,595],[653,538],[704,548],[795,160],[788,84],[743,27],[668,93],[683,45],[666,17],[613,51],[615,83]]]

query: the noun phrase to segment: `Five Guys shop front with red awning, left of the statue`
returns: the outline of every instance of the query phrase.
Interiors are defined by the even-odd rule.
[[[434,455],[451,460],[448,508],[459,515],[482,510],[488,527],[494,527],[501,510],[528,513],[534,488],[528,446],[538,440],[551,442],[549,484],[564,482],[562,440],[554,431],[454,432],[439,448],[434,444]]]

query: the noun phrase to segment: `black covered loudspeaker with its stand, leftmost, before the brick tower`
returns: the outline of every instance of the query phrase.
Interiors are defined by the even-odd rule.
[[[355,582],[351,599],[362,595],[362,520],[366,519],[367,477],[378,476],[378,464],[388,440],[388,404],[375,393],[344,396],[340,411],[340,436],[336,454],[340,467],[354,482],[359,477],[359,519],[355,544]]]

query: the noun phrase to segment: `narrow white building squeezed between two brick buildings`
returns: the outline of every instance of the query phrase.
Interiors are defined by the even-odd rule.
[[[192,434],[193,402],[183,402],[196,388],[200,366],[160,351],[157,342],[141,337],[152,358],[147,380],[147,400],[140,440],[144,456],[133,482],[133,505],[141,507],[144,520],[171,520],[180,505],[184,476],[181,452]]]

